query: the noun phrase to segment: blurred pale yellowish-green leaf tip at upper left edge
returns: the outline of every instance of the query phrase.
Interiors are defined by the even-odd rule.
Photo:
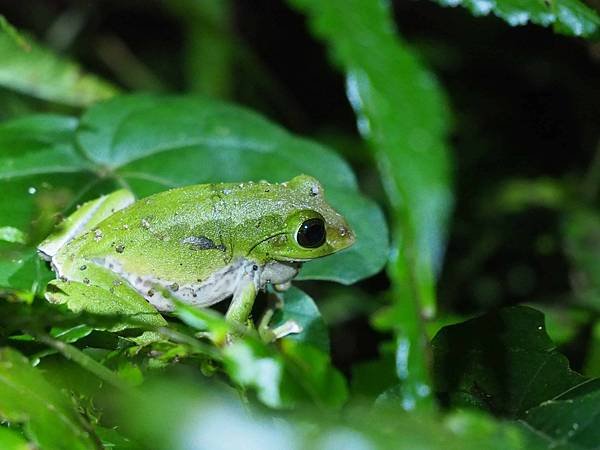
[[[32,97],[87,106],[112,97],[117,88],[86,74],[79,65],[29,39],[26,46],[0,33],[0,86]]]

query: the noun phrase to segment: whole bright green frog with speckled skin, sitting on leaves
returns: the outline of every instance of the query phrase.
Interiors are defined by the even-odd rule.
[[[139,200],[120,189],[82,204],[38,253],[63,289],[100,289],[106,302],[143,298],[160,313],[178,302],[206,308],[231,298],[225,319],[248,326],[261,290],[285,290],[303,263],[354,242],[318,180],[298,175],[281,183],[196,184]],[[300,331],[288,321],[270,336]]]

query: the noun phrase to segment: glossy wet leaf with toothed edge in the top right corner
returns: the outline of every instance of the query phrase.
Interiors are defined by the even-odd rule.
[[[490,12],[511,26],[528,22],[553,27],[571,36],[597,36],[600,17],[579,0],[436,0],[443,6],[462,5],[475,16]]]

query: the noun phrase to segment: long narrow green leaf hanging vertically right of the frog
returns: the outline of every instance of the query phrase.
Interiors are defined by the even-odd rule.
[[[375,154],[392,205],[395,245],[389,272],[399,307],[391,310],[391,322],[402,347],[398,366],[406,370],[398,374],[406,404],[415,404],[430,392],[420,322],[435,313],[435,274],[452,204],[445,99],[396,34],[388,3],[290,3],[307,12],[315,33],[346,72],[358,129]]]

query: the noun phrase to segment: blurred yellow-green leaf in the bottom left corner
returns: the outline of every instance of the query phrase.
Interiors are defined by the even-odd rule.
[[[100,448],[70,399],[10,348],[0,350],[0,416],[22,423],[25,435],[43,449]]]

